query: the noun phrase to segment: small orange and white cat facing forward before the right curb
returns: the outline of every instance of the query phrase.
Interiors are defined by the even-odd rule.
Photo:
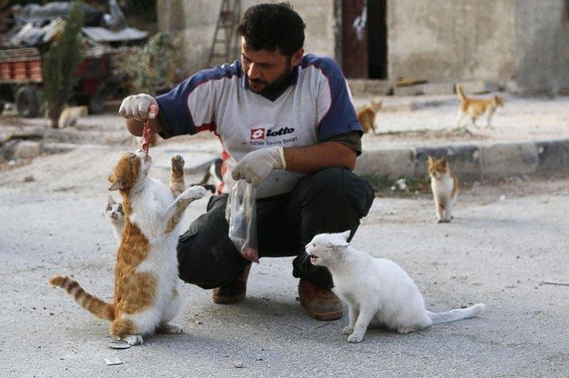
[[[440,224],[449,223],[452,219],[452,204],[459,192],[458,177],[452,172],[446,157],[437,160],[429,156],[427,170],[431,177],[437,222]]]

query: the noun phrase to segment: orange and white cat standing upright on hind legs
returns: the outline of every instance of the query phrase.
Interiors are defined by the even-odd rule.
[[[124,154],[108,177],[109,190],[122,196],[125,228],[115,267],[113,303],[86,293],[75,279],[54,275],[76,302],[99,318],[111,321],[110,334],[127,346],[143,343],[148,333],[182,333],[169,323],[178,313],[178,222],[192,201],[206,190],[192,186],[174,199],[166,185],[147,176],[151,158],[142,150]]]

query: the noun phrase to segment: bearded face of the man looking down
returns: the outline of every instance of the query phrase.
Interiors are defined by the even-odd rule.
[[[280,54],[280,51],[251,50],[245,39],[241,38],[241,64],[249,88],[258,94],[268,93],[272,89],[288,82],[292,68],[299,65],[304,51],[300,49],[292,56]]]

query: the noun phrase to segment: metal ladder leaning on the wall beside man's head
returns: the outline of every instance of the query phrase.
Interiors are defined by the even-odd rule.
[[[218,23],[209,49],[208,66],[228,63],[237,56],[237,33],[235,26],[241,16],[240,0],[222,0],[219,8]],[[232,56],[231,53],[235,55]]]

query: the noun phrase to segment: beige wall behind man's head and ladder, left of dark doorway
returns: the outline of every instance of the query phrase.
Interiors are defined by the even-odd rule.
[[[250,5],[279,1],[242,0],[242,11]],[[334,55],[335,21],[333,0],[292,0],[290,4],[306,23],[305,50],[318,55]],[[221,0],[158,0],[158,29],[182,40],[180,70],[191,75],[208,65],[208,55]],[[237,54],[235,55],[237,58]]]

